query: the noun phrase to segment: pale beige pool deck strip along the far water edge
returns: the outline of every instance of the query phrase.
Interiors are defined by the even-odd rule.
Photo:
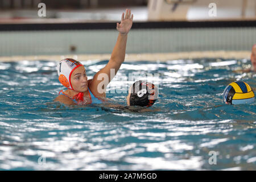
[[[177,59],[203,59],[207,58],[223,58],[223,59],[250,59],[250,51],[195,51],[195,52],[175,52],[175,53],[140,53],[140,54],[126,54],[125,61],[168,61]],[[92,54],[92,55],[36,55],[36,56],[9,56],[0,57],[1,62],[10,61],[34,61],[34,60],[51,60],[59,61],[66,57],[77,60],[109,60],[110,54]]]

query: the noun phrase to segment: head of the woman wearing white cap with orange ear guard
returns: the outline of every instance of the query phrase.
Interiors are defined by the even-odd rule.
[[[57,65],[59,81],[68,89],[76,92],[85,92],[88,89],[88,80],[85,67],[74,59],[63,59]]]

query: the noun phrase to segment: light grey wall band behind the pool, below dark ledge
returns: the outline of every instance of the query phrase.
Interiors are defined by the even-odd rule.
[[[0,56],[111,53],[114,30],[0,31]],[[243,51],[256,42],[256,27],[131,30],[127,53]]]

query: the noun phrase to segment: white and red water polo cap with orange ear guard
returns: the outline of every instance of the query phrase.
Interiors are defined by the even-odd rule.
[[[83,66],[79,61],[74,59],[63,59],[60,60],[59,64],[57,65],[57,72],[59,75],[59,81],[63,86],[67,87],[68,89],[73,90],[71,84],[71,75],[76,68]]]

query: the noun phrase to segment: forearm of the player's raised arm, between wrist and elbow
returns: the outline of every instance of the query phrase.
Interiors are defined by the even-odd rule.
[[[117,43],[115,43],[115,47],[110,57],[110,60],[113,60],[115,64],[117,64],[118,69],[125,60],[126,42],[127,34],[119,33]]]

